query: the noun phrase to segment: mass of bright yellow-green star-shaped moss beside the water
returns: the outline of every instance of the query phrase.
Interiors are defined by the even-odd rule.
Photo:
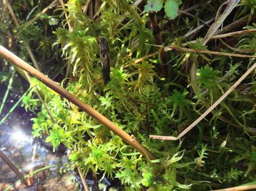
[[[20,7],[17,6],[19,2],[23,1],[15,1],[14,7],[19,18],[22,18]],[[199,18],[204,21],[214,18],[223,2],[201,1],[199,8],[193,10],[194,18],[180,15],[172,21],[163,19],[164,7],[160,2],[157,16],[164,44],[182,46],[182,42],[187,41],[183,36],[191,26],[198,27],[201,24]],[[165,79],[159,74],[157,54],[133,63],[135,59],[157,51],[157,48],[146,45],[155,44],[155,41],[150,31],[148,13],[143,12],[144,5],[136,7],[132,3],[102,1],[99,16],[91,18],[83,12],[87,1],[69,0],[66,1],[65,10],[58,8],[57,16],[53,13],[54,16],[50,13],[42,16],[25,29],[20,38],[26,39],[36,49],[44,73],[53,78],[60,72],[57,80],[66,90],[125,132],[133,134],[158,159],[150,161],[142,157],[86,112],[37,80],[32,80],[32,89],[23,99],[25,108],[37,115],[32,119],[33,135],[46,135],[46,142],[52,143],[54,150],[63,143],[71,150],[69,159],[73,167],[78,166],[84,172],[90,169],[101,171],[103,176],[110,179],[118,178],[125,190],[208,190],[219,184],[228,187],[254,180],[255,137],[249,132],[250,128],[255,127],[254,74],[243,82],[244,89],[241,86],[241,89],[233,91],[184,140],[163,142],[150,139],[148,135],[177,136],[255,60],[168,51],[169,76]],[[159,1],[148,3],[148,6],[150,3],[155,6]],[[181,2],[166,3],[178,6]],[[194,5],[192,1],[182,3],[184,8]],[[225,24],[233,22],[234,15],[237,20],[252,14],[255,1],[241,1],[240,6],[242,8],[236,9],[238,13],[233,14],[232,18],[228,17]],[[39,11],[38,7],[31,16]],[[63,11],[66,11],[68,20]],[[176,12],[173,18],[175,16]],[[68,29],[67,22],[70,22],[72,30]],[[0,27],[6,31],[3,24]],[[255,24],[248,24],[247,28],[255,28]],[[207,27],[203,28],[193,40],[203,37],[207,30]],[[106,37],[109,42],[111,74],[106,86],[100,80],[99,37]],[[255,33],[232,38],[237,51],[247,50],[255,55]],[[201,38],[198,38],[188,46],[213,50],[221,46],[221,42],[210,41],[207,46],[202,46]],[[218,51],[232,52],[226,47]],[[27,52],[23,49],[20,56],[27,58]],[[189,61],[187,58],[190,58]],[[197,79],[190,83],[191,62],[195,58],[198,64]],[[198,86],[197,92],[192,91],[193,83]],[[55,123],[41,107],[34,93],[36,89],[43,94]],[[220,120],[220,115],[227,120]]]

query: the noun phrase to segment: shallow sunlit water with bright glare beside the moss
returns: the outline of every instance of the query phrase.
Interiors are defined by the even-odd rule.
[[[56,154],[52,152],[50,145],[45,145],[46,143],[41,144],[43,142],[44,140],[34,140],[32,136],[22,131],[19,125],[16,125],[14,128],[0,125],[1,151],[14,162],[23,175],[28,175],[29,172],[39,169],[39,172],[34,175],[35,186],[25,188],[20,185],[19,190],[83,190],[82,181],[78,173],[75,173],[71,168],[67,168],[70,167],[67,158],[70,151],[66,150],[62,154]],[[40,170],[42,168],[46,169]],[[0,172],[1,191],[3,185],[10,186],[18,180],[15,173],[1,159]],[[86,181],[90,186],[90,190],[94,190],[94,181],[88,179],[88,177]],[[100,190],[109,190],[110,185],[106,178],[99,183]],[[110,190],[116,189],[110,188]]]

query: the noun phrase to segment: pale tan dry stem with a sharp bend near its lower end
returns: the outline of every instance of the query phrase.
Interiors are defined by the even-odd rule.
[[[173,137],[173,136],[156,136],[156,135],[150,135],[149,137],[151,138],[157,138],[157,139],[161,139],[161,140],[178,140],[181,137],[183,137],[187,132],[189,132],[195,125],[197,125],[204,117],[206,117],[212,110],[214,110],[214,108],[216,108],[219,103],[221,101],[223,101],[227,95],[229,93],[231,93],[237,85],[239,85],[244,79],[245,77],[247,77],[254,69],[256,68],[256,63],[253,64],[253,66],[251,66],[249,68],[248,71],[246,71],[241,77],[240,79],[238,79],[236,81],[236,83],[234,83],[231,88],[229,88],[210,108],[208,108],[197,120],[195,120],[189,127],[187,127],[180,135],[178,135],[177,137]]]

